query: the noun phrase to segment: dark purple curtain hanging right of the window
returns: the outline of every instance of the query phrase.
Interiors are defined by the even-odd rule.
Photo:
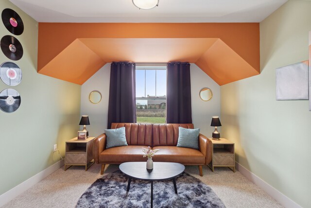
[[[190,64],[167,64],[166,123],[192,123]]]

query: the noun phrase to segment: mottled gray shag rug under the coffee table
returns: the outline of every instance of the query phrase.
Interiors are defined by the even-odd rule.
[[[120,170],[97,179],[80,197],[76,208],[148,208],[151,182],[128,178]],[[154,208],[225,208],[214,191],[199,179],[184,172],[173,180],[154,181]]]

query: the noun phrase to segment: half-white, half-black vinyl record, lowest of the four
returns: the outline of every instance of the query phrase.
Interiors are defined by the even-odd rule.
[[[20,106],[20,95],[16,90],[5,89],[0,93],[0,109],[5,113],[15,112]]]

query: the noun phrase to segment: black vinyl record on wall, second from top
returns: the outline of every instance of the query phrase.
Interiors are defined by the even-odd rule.
[[[23,56],[23,47],[13,36],[3,36],[0,46],[3,54],[11,60],[17,61]]]

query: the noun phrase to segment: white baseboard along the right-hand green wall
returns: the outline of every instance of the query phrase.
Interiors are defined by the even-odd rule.
[[[257,175],[252,173],[251,171],[244,168],[241,164],[235,163],[235,167],[239,172],[242,173],[248,180],[259,186],[260,189],[264,190],[267,194],[269,194],[272,198],[274,198],[278,203],[280,203],[285,208],[301,208],[297,203],[293,200],[285,196],[283,193],[273,188]]]

